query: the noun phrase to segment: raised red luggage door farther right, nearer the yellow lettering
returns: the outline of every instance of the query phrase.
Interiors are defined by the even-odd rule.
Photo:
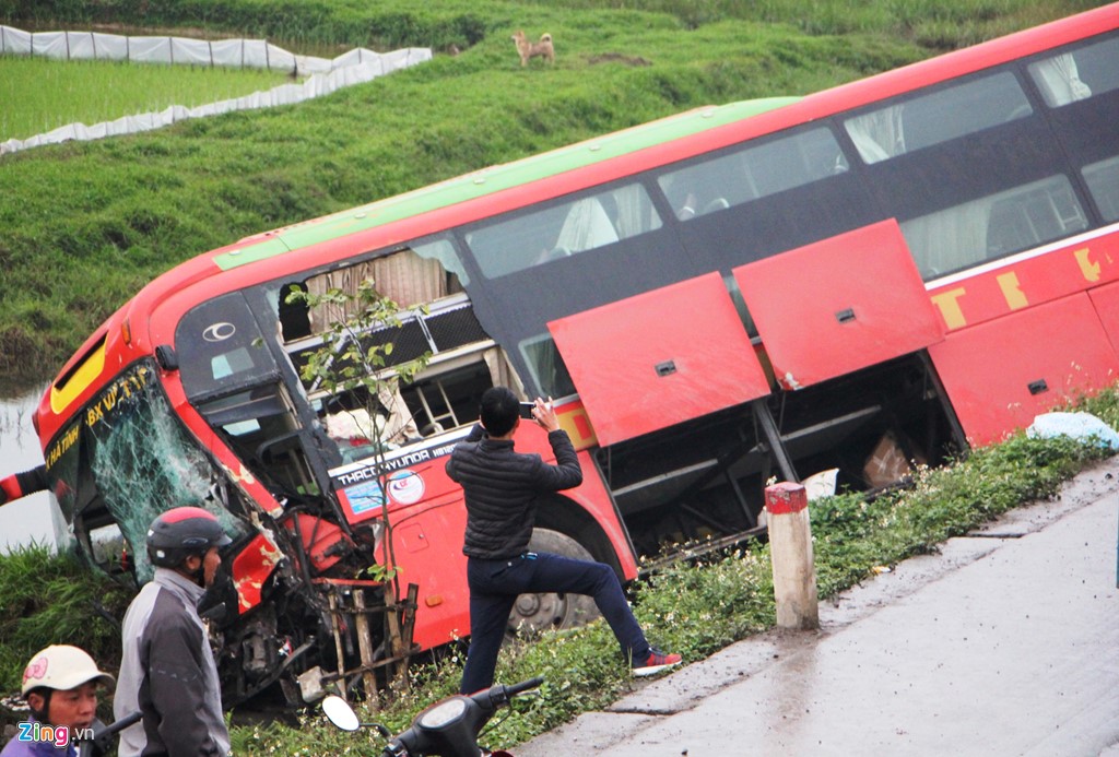
[[[786,389],[850,373],[944,338],[893,219],[734,269]]]

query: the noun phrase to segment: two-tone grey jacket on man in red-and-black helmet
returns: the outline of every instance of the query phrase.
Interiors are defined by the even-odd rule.
[[[203,594],[173,570],[156,568],[129,606],[113,715],[139,710],[143,720],[121,732],[120,757],[229,754],[217,666],[198,617]]]

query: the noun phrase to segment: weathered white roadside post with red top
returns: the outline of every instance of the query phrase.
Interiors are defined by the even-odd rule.
[[[802,485],[790,482],[767,486],[765,510],[769,513],[777,624],[798,631],[819,628],[808,493]]]

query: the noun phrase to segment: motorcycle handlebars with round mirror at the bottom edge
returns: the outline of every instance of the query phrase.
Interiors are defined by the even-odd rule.
[[[380,723],[361,722],[349,703],[330,694],[322,711],[336,727],[356,731],[372,727],[389,739],[382,757],[513,757],[508,751],[489,751],[478,746],[478,736],[497,711],[511,707],[513,699],[544,683],[533,678],[513,685],[495,685],[469,697],[455,694],[427,707],[412,727],[395,738]]]

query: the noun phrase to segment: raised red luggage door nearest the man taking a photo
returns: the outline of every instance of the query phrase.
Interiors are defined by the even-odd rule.
[[[602,445],[770,394],[717,273],[552,321]]]

